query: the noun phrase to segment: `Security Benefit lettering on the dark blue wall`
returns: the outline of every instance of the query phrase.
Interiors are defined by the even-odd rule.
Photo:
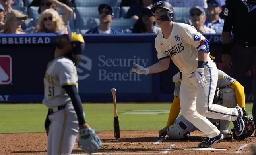
[[[143,67],[148,66],[149,59],[140,59],[135,55],[131,58],[108,58],[105,55],[98,57],[99,81],[142,81],[140,74],[130,72],[133,63]],[[118,68],[114,72],[109,72],[108,68]],[[112,71],[112,70],[111,70]]]

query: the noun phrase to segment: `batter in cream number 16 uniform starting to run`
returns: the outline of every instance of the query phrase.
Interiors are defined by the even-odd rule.
[[[173,22],[171,4],[159,1],[151,8],[161,32],[155,38],[159,62],[148,68],[134,64],[132,72],[153,74],[167,70],[170,58],[182,72],[180,108],[182,115],[208,136],[199,147],[211,147],[223,139],[223,134],[206,117],[233,121],[235,133],[244,130],[242,108],[227,108],[212,104],[218,81],[217,66],[209,57],[209,42],[188,24]]]

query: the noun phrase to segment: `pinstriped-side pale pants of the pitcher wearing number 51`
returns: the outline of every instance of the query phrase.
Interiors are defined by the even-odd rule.
[[[70,155],[78,135],[78,119],[72,103],[49,115],[47,155]]]

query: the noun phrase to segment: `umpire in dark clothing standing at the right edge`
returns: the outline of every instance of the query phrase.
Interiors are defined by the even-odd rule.
[[[226,0],[223,15],[223,71],[244,85],[248,70],[256,77],[256,0]],[[234,36],[230,42],[231,31]],[[256,123],[256,78],[252,82],[252,95],[252,115]]]

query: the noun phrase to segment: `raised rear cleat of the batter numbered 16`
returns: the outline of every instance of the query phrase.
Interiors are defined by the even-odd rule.
[[[235,134],[237,136],[240,136],[242,132],[244,132],[244,120],[242,119],[242,108],[237,106],[235,107],[238,111],[238,117],[237,120],[233,121],[234,127],[235,127]]]

